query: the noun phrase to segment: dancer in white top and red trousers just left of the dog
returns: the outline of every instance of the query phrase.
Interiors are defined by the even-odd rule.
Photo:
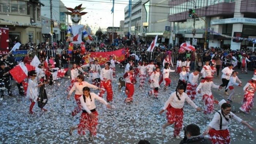
[[[112,84],[113,81],[113,71],[109,68],[110,62],[106,62],[105,68],[101,69],[101,84],[100,87],[102,89],[105,89],[107,91],[107,102],[113,101],[113,91],[112,91]],[[105,93],[105,90],[101,91],[99,93],[100,97],[103,97],[103,94]]]

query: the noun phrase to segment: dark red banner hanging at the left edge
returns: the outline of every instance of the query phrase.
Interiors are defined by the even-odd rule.
[[[0,55],[8,54],[9,50],[9,29],[0,27]]]

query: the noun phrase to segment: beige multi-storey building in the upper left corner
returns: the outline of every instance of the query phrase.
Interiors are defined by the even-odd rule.
[[[42,41],[41,8],[39,0],[0,0],[0,27],[9,28],[9,43],[22,44]]]

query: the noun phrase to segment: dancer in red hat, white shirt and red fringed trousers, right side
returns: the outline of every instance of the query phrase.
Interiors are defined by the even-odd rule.
[[[214,111],[214,98],[211,92],[211,88],[222,88],[221,86],[217,86],[212,82],[213,76],[206,76],[204,80],[201,81],[199,86],[196,88],[198,94],[202,94],[203,102],[204,102],[204,114],[211,118],[211,114]]]

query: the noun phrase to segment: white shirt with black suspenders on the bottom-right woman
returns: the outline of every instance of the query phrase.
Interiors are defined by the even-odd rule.
[[[219,112],[221,113],[221,110],[219,110]],[[222,128],[219,129],[219,125],[221,124],[221,117],[222,117]],[[238,123],[241,123],[241,121],[242,121],[241,118],[237,117],[231,111],[228,115],[225,115],[225,116],[223,114],[220,115],[219,113],[215,113],[208,126],[211,126],[212,129],[216,129],[216,130],[227,129],[229,126],[229,122],[225,119],[225,117],[229,120],[229,122],[231,121],[231,119],[235,120]]]

